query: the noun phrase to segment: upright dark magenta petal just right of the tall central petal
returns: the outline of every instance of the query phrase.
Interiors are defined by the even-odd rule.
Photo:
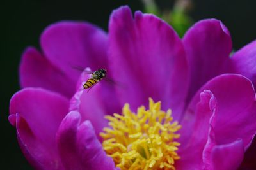
[[[205,82],[227,71],[232,41],[227,27],[222,22],[209,19],[191,27],[183,42],[191,76],[189,101]]]

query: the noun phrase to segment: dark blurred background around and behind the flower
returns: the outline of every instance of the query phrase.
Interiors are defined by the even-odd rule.
[[[256,39],[255,0],[197,0],[193,3],[193,20],[222,20],[231,32],[234,49]],[[8,122],[10,97],[19,90],[17,69],[24,48],[29,45],[39,48],[42,30],[59,20],[86,20],[107,31],[111,11],[124,4],[132,11],[143,10],[139,0],[1,1],[0,169],[31,169],[20,151],[15,128]],[[172,0],[157,0],[157,4],[166,8],[172,6]]]

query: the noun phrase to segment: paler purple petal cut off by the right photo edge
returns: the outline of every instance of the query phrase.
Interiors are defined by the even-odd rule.
[[[231,57],[234,73],[249,78],[256,86],[256,41],[244,46]]]

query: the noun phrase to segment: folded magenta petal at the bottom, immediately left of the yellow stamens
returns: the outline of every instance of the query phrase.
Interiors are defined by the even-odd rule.
[[[79,125],[77,111],[63,119],[57,135],[58,149],[66,169],[115,169],[113,160],[102,150],[89,121]]]

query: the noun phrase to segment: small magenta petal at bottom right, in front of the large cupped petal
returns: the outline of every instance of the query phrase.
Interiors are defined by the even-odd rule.
[[[239,167],[243,160],[243,141],[237,139],[232,143],[218,145],[212,148],[211,164],[209,169],[234,170]]]

